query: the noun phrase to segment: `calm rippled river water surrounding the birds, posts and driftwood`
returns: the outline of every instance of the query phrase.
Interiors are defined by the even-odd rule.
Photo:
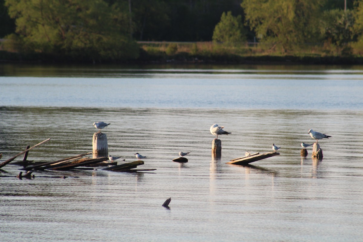
[[[93,122],[111,123],[102,168],[0,170],[0,241],[362,241],[362,66],[52,67],[0,64],[1,162],[92,151]],[[220,159],[211,156],[217,123]],[[309,129],[323,159],[300,143]],[[280,155],[226,164],[245,151]],[[191,153],[176,163],[178,152]],[[20,161],[19,156],[15,161]],[[44,176],[69,176],[66,179]],[[162,206],[171,197],[170,209]]]

